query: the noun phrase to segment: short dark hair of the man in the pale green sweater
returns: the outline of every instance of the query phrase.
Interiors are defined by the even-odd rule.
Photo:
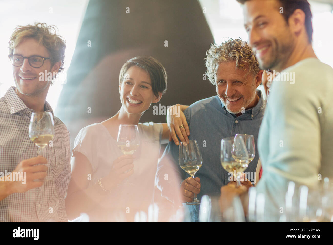
[[[251,0],[236,0],[237,2],[244,4]],[[312,43],[312,13],[310,9],[310,3],[307,0],[277,0],[280,2],[283,8],[283,17],[288,23],[289,17],[294,13],[296,9],[300,9],[305,14],[305,29],[308,34],[309,43]]]

